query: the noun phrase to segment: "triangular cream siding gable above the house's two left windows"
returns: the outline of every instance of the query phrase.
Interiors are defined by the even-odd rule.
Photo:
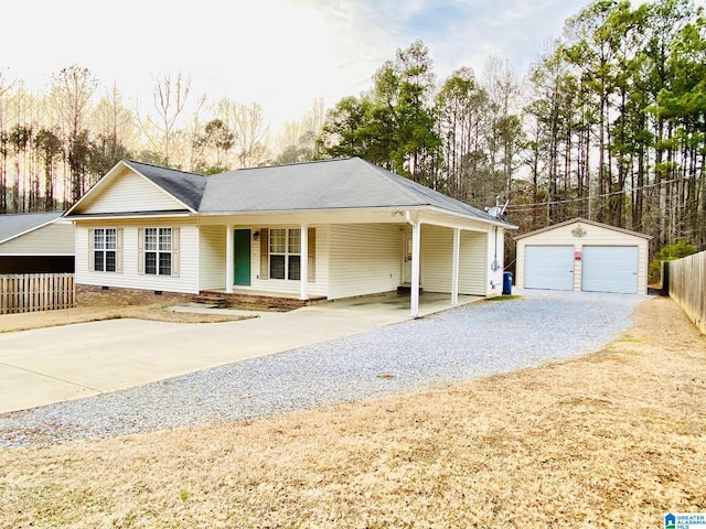
[[[184,209],[184,205],[149,180],[126,171],[98,196],[83,204],[82,214],[164,212]]]

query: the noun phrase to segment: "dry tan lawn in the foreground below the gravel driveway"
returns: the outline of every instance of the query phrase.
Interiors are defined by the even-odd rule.
[[[0,450],[0,526],[656,528],[706,511],[706,338],[642,303],[605,350],[378,401]]]

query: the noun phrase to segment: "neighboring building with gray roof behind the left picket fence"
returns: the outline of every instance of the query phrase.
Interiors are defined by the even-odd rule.
[[[64,212],[0,215],[0,273],[74,271],[74,226]]]

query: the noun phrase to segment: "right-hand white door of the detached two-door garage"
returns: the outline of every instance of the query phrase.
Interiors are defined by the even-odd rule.
[[[637,246],[585,246],[581,290],[638,293]]]

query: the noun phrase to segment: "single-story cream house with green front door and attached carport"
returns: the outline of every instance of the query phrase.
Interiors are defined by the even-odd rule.
[[[76,283],[336,300],[502,293],[514,226],[359,158],[203,176],[122,160],[68,212]]]

